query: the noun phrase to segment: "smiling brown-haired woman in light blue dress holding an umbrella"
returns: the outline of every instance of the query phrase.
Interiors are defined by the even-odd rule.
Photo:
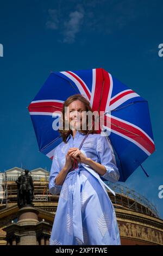
[[[120,174],[108,139],[97,134],[93,127],[88,130],[85,111],[92,109],[80,94],[68,97],[62,108],[63,141],[55,148],[49,177],[49,191],[60,193],[50,245],[121,244],[114,206],[105,186],[99,182],[101,179],[116,182]],[[64,130],[68,121],[69,130]],[[82,121],[86,122],[86,130],[82,130]]]

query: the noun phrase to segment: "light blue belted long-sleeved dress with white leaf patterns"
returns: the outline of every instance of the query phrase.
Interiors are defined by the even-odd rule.
[[[67,151],[79,148],[84,136],[77,131],[74,139],[72,135],[68,136],[67,143],[60,143],[54,151],[49,192],[60,193],[60,197],[50,245],[121,245],[114,206],[105,186],[99,181],[102,178],[116,182],[120,178],[105,136],[89,134],[80,149],[87,157],[105,166],[104,175],[91,169],[96,173],[96,176],[92,175],[86,169],[89,166],[79,163],[77,169],[67,174],[62,185],[55,184],[56,176],[65,166]]]

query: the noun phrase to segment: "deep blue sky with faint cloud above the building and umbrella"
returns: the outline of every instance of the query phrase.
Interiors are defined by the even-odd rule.
[[[141,0],[1,1],[1,162],[51,169],[39,153],[26,108],[52,71],[104,68],[149,102],[156,151],[123,184],[153,202],[163,218],[163,2]]]

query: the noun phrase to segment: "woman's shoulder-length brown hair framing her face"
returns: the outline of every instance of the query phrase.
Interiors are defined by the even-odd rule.
[[[68,107],[73,101],[75,100],[80,100],[84,103],[85,108],[86,108],[86,112],[87,111],[91,111],[92,112],[92,108],[90,106],[90,102],[85,99],[84,96],[82,96],[81,94],[74,94],[70,97],[67,98],[67,100],[65,100],[64,105],[62,107],[62,122],[63,122],[63,130],[59,129],[59,132],[61,133],[61,137],[62,140],[67,143],[66,139],[67,137],[71,134],[72,135],[72,130],[64,130],[65,129],[65,107]],[[92,117],[92,121],[94,121],[95,118],[94,116]],[[89,131],[88,130],[88,117],[86,117],[86,130],[79,130],[79,132],[84,133],[86,135],[86,133]],[[70,126],[69,126],[70,127]],[[89,131],[89,133],[97,133],[97,131],[95,130],[95,125],[93,124],[92,129]]]

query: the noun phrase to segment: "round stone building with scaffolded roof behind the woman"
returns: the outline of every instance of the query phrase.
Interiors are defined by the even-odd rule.
[[[30,209],[30,214],[22,221],[15,180],[23,171],[14,167],[0,172],[0,245],[48,245],[59,195],[49,194],[47,170],[32,170],[34,210]],[[110,186],[116,192],[114,197],[108,191],[116,210],[121,244],[163,245],[163,221],[155,206],[125,186],[118,183]],[[26,216],[26,212],[23,214]]]

